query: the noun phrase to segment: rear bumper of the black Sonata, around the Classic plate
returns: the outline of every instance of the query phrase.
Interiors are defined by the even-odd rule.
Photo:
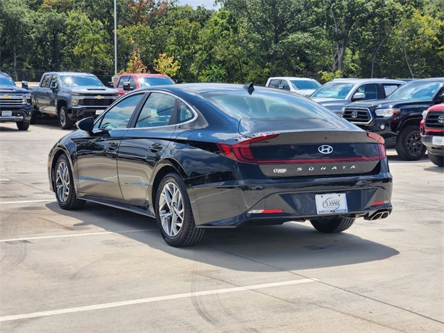
[[[243,184],[201,185],[188,189],[196,225],[201,228],[235,228],[243,224],[281,224],[323,216],[384,218],[390,214],[390,173],[273,182],[244,181]],[[348,212],[317,214],[317,194],[345,194]],[[251,211],[282,210],[256,214]],[[377,213],[388,214],[377,214]],[[376,215],[375,215],[376,214]]]

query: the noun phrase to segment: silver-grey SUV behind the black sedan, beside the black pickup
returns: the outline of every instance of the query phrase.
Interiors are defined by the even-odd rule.
[[[335,78],[316,89],[310,99],[341,115],[348,103],[385,99],[404,83],[388,78]]]

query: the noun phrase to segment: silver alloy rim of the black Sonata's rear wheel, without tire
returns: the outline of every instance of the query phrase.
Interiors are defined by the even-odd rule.
[[[176,236],[182,228],[185,210],[182,194],[174,182],[167,182],[162,188],[158,207],[164,232],[169,237]]]

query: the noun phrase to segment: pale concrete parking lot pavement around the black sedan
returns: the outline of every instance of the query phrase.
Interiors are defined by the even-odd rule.
[[[387,219],[171,248],[144,216],[58,207],[46,160],[65,134],[0,124],[1,332],[444,332],[444,175],[427,158],[388,150]]]

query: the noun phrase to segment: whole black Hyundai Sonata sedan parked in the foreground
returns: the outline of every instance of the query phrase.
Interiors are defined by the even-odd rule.
[[[49,153],[60,207],[92,201],[155,217],[171,246],[246,224],[309,220],[341,232],[392,210],[384,139],[278,89],[138,89],[77,126]]]

